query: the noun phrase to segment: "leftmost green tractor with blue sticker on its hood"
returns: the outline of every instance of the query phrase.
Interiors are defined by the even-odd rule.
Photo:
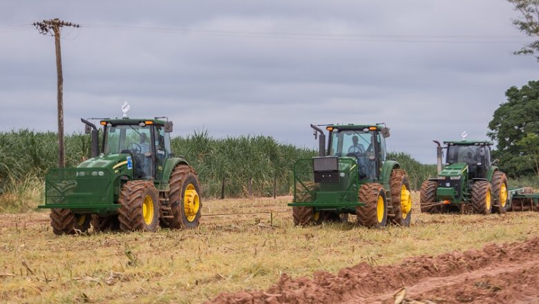
[[[50,169],[45,204],[55,234],[189,229],[200,220],[196,171],[171,152],[172,122],[126,117],[82,119],[92,137],[92,158],[76,168]]]

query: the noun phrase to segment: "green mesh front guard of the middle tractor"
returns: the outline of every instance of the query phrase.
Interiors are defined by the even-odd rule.
[[[294,202],[337,205],[341,202],[357,202],[359,189],[357,163],[351,159],[339,159],[339,171],[331,174],[337,174],[338,178],[314,182],[312,159],[298,160],[294,164]]]

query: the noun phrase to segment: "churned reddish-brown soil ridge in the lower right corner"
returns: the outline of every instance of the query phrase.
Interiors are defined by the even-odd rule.
[[[396,292],[406,296],[396,301]],[[401,294],[404,292],[401,292]],[[481,250],[361,263],[314,278],[283,274],[265,291],[220,294],[211,303],[539,303],[539,237]]]

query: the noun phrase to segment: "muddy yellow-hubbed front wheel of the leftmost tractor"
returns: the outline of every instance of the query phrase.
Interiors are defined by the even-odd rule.
[[[150,231],[157,230],[159,225],[159,196],[153,182],[146,180],[131,180],[124,184],[120,193],[121,231]]]

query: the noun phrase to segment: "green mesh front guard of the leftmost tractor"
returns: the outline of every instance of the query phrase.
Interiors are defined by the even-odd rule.
[[[45,177],[45,205],[111,204],[112,173],[104,168],[50,169]]]

